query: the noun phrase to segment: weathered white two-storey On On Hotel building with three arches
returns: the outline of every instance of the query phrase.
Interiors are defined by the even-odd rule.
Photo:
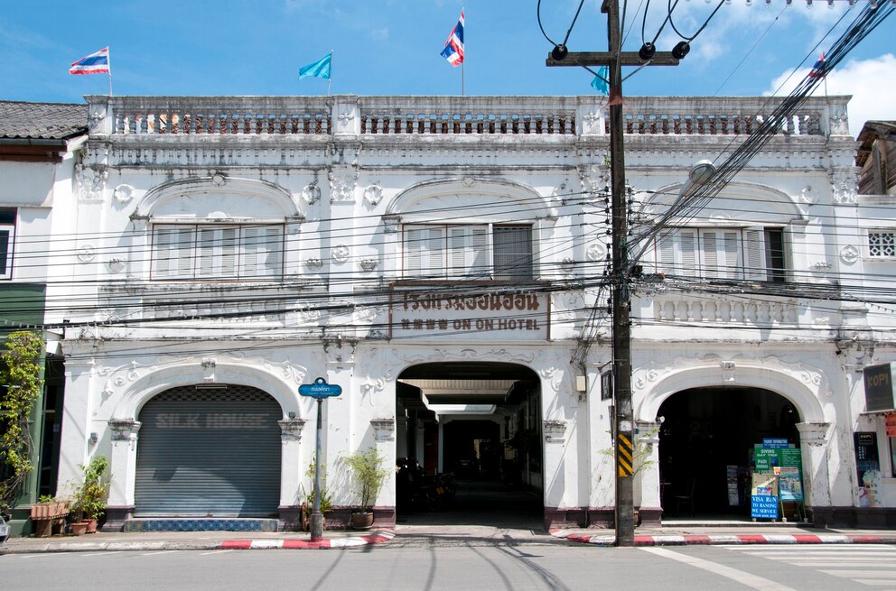
[[[61,480],[111,457],[107,528],[292,527],[316,427],[298,387],[322,377],[343,392],[324,410],[331,525],[358,502],[340,457],[369,447],[527,485],[546,524],[611,523],[603,100],[88,97],[77,259],[59,277],[74,302]],[[633,232],[775,100],[627,97]],[[869,295],[891,289],[893,254],[865,243],[846,100],[808,99],[705,209],[643,245],[642,519],[676,496],[749,518],[763,439],[797,449],[817,524],[896,507],[860,379],[894,354],[893,314]],[[858,431],[885,476],[869,508]],[[395,499],[390,477],[378,522]]]

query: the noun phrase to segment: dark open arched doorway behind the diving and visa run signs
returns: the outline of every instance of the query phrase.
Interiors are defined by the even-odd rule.
[[[799,448],[797,408],[761,388],[677,392],[657,418],[664,519],[749,519],[755,446]]]

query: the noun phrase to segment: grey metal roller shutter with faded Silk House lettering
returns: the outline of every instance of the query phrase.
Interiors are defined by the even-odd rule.
[[[140,412],[135,513],[276,514],[282,417],[271,396],[248,386],[155,396]]]

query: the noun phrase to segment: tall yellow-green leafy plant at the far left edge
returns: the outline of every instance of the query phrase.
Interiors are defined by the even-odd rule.
[[[11,333],[0,354],[0,506],[14,503],[34,470],[28,421],[41,397],[43,341],[29,331]]]

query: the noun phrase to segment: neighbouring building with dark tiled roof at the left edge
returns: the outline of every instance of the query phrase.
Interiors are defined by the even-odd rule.
[[[75,154],[87,140],[87,105],[0,101],[0,337],[40,327],[66,286],[53,284],[76,208],[71,194]],[[52,236],[52,241],[51,241]],[[39,468],[15,503],[13,532],[27,533],[30,503],[57,489],[62,421],[59,336],[45,332],[42,399],[33,416],[33,462]],[[5,384],[0,384],[0,386]]]

